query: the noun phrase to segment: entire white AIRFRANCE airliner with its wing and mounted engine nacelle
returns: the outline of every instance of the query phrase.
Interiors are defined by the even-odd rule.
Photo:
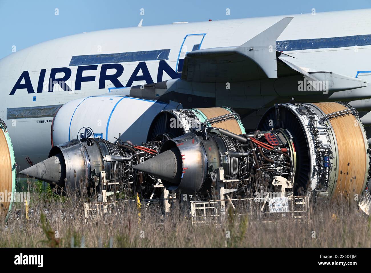
[[[370,75],[371,9],[139,24],[1,59],[0,118],[22,170],[73,138],[145,141],[164,108],[230,106],[246,128],[277,102],[370,110]]]

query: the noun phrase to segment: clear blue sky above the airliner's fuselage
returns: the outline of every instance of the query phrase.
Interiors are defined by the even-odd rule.
[[[19,51],[85,31],[137,26],[141,19],[149,26],[370,7],[371,0],[0,0],[0,59],[13,45]]]

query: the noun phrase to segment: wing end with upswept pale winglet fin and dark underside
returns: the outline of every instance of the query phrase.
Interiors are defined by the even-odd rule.
[[[241,46],[188,52],[181,79],[192,82],[241,82],[278,78],[276,39],[292,18],[283,18]]]

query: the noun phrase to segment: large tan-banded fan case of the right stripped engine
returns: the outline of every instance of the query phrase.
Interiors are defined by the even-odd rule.
[[[353,200],[365,189],[370,153],[358,112],[345,103],[277,104],[259,129],[284,128],[295,147],[294,191]]]

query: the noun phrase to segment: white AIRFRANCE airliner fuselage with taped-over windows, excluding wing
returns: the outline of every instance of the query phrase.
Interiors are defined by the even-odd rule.
[[[295,57],[290,62],[309,72],[365,79],[371,74],[371,9],[290,16],[293,20],[276,42],[278,51]],[[40,162],[51,148],[52,116],[43,116],[39,106],[180,78],[186,52],[242,45],[284,17],[288,16],[101,30],[4,57],[0,118],[7,124],[17,163],[22,170],[28,167],[26,157]],[[32,115],[22,116],[22,109],[30,108],[35,110]]]

